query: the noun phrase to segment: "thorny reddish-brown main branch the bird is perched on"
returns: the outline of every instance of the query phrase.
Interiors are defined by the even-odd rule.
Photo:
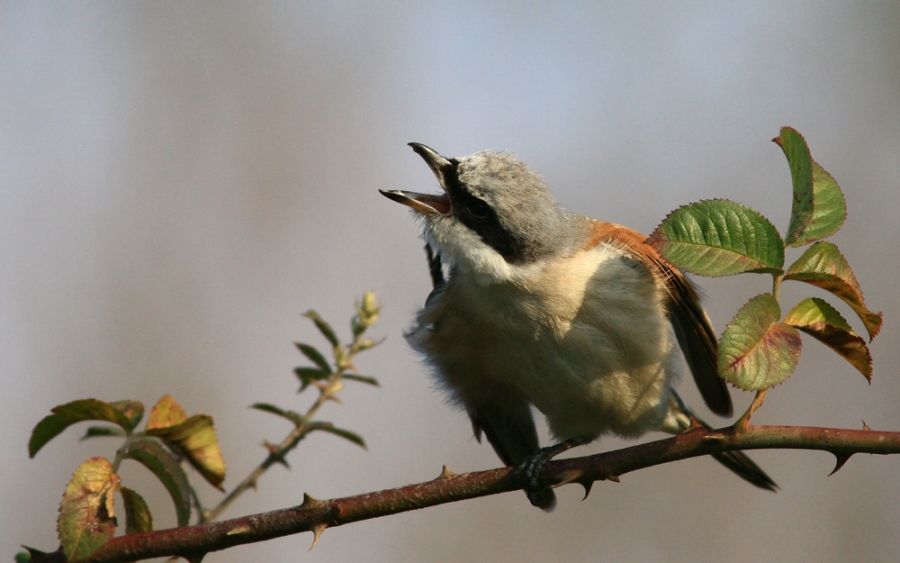
[[[690,432],[588,457],[548,463],[541,474],[546,485],[577,482],[589,490],[594,481],[617,480],[620,475],[714,452],[748,449],[811,449],[831,452],[836,469],[855,453],[900,453],[900,432],[845,430],[797,426],[748,426],[736,433],[695,429]],[[446,470],[425,483],[353,497],[317,500],[304,495],[300,506],[111,539],[84,559],[85,563],[113,563],[163,556],[198,556],[235,545],[254,543],[300,532],[313,532],[314,541],[329,528],[438,504],[521,489],[510,468],[454,475]]]

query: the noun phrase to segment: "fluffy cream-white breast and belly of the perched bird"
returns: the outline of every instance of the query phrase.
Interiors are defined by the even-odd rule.
[[[561,439],[641,434],[665,414],[672,346],[661,289],[608,245],[525,266],[514,282],[451,278],[410,342],[458,402],[521,394]]]

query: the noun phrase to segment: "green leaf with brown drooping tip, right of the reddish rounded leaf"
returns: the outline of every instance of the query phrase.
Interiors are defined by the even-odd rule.
[[[784,322],[825,344],[872,381],[872,354],[866,341],[850,328],[841,314],[824,299],[810,297],[798,303]]]

